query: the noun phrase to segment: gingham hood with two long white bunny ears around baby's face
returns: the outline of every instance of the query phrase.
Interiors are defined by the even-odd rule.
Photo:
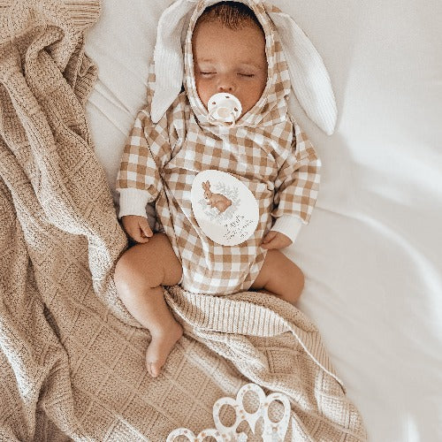
[[[178,0],[161,16],[154,51],[156,86],[151,103],[154,123],[164,116],[184,85],[195,115],[205,126],[207,111],[194,87],[192,34],[202,11],[216,3],[217,0]],[[277,7],[260,0],[240,3],[255,12],[263,27],[268,61],[267,87],[254,109],[241,118],[241,126],[255,126],[260,121],[265,124],[265,116],[261,118],[258,114],[275,110],[281,98],[286,100],[294,93],[309,118],[325,133],[333,133],[337,109],[330,77],[309,38]]]

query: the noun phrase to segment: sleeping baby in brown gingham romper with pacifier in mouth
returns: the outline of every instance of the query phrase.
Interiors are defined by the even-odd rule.
[[[137,244],[119,258],[115,282],[149,329],[153,377],[182,335],[162,286],[298,300],[303,274],[281,249],[309,222],[319,183],[320,161],[287,109],[289,72],[263,5],[206,3],[190,19],[184,89],[155,123],[153,66],[118,172],[119,217]]]

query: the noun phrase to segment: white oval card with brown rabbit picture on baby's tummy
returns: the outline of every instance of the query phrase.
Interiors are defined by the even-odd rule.
[[[248,187],[224,171],[201,171],[190,191],[192,210],[202,232],[217,244],[236,246],[255,232],[258,203]]]

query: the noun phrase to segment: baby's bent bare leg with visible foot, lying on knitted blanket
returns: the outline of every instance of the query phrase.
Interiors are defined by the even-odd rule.
[[[181,274],[181,264],[163,233],[126,250],[115,268],[118,296],[133,317],[150,331],[146,365],[153,377],[158,376],[171,348],[183,334],[164,301],[162,288],[178,284]]]

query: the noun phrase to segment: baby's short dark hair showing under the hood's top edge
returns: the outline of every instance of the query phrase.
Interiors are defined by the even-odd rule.
[[[225,27],[230,29],[242,29],[253,23],[261,30],[263,27],[256,19],[255,12],[248,5],[240,2],[219,2],[212,4],[202,11],[201,16],[197,19],[196,24],[205,21],[220,21]]]

